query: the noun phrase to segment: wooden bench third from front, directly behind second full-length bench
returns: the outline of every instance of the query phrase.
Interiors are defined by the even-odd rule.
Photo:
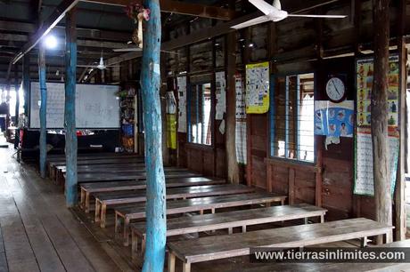
[[[167,214],[184,212],[200,212],[210,210],[215,213],[216,209],[238,207],[251,204],[271,204],[280,202],[284,204],[286,196],[276,194],[255,193],[243,194],[239,196],[209,196],[186,200],[167,201]],[[135,204],[128,207],[120,207],[115,210],[115,235],[119,236],[121,221],[124,221],[124,244],[129,244],[129,224],[131,220],[145,218],[145,204]]]

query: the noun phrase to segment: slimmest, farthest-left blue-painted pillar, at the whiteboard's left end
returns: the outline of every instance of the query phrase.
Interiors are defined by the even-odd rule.
[[[40,175],[45,178],[45,162],[47,160],[47,86],[45,82],[45,45],[40,43],[38,52],[38,81],[40,85]]]

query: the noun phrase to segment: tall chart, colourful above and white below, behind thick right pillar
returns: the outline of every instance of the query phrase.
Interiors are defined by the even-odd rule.
[[[398,170],[398,56],[389,58],[389,169],[391,192]],[[373,58],[357,60],[357,129],[355,143],[356,195],[374,195],[373,144],[371,131],[371,98],[373,88]]]

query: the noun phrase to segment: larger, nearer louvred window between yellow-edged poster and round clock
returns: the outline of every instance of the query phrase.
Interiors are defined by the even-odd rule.
[[[271,110],[271,156],[315,161],[314,74],[278,76]]]

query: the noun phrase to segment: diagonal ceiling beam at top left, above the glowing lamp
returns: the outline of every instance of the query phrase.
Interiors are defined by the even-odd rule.
[[[61,4],[59,4],[53,13],[45,20],[41,27],[37,29],[37,32],[34,36],[29,39],[27,44],[21,48],[21,51],[18,52],[14,58],[12,59],[12,64],[15,64],[19,61],[27,52],[33,49],[40,40],[46,36],[65,16],[67,12],[69,12],[76,4],[78,4],[79,0],[63,0]]]

